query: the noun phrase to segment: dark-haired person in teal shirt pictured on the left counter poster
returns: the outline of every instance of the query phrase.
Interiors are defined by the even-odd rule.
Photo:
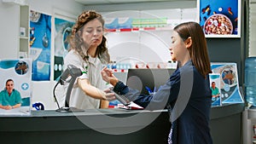
[[[21,106],[20,92],[15,89],[13,79],[8,79],[5,83],[5,89],[0,92],[0,108],[9,110]]]

